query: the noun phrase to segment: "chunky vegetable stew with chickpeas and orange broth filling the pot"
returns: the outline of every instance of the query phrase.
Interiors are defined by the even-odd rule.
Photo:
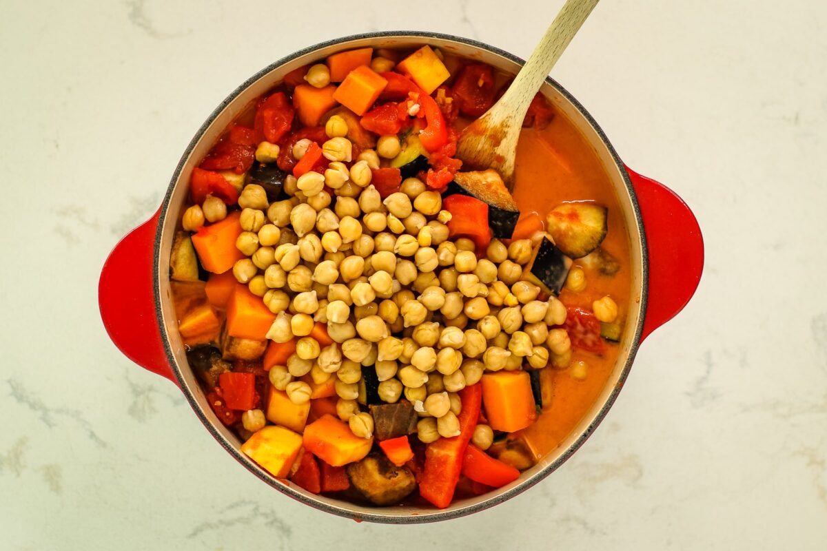
[[[179,332],[273,476],[442,508],[516,480],[598,399],[630,269],[594,151],[538,95],[513,193],[454,157],[509,78],[427,45],[340,52],[287,74],[194,169]]]

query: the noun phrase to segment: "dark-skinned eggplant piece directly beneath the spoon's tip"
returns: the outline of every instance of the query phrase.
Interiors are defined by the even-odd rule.
[[[519,208],[514,197],[494,169],[458,172],[448,185],[447,193],[470,195],[488,205],[488,225],[491,235],[510,239],[519,219]]]

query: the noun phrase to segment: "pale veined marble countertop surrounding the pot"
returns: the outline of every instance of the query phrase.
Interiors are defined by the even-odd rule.
[[[7,6],[0,548],[825,549],[824,2],[601,2],[554,69],[627,164],[691,205],[706,269],[595,435],[494,510],[394,527],[289,500],[103,329],[104,259],[237,83],[380,29],[525,57],[561,4]]]

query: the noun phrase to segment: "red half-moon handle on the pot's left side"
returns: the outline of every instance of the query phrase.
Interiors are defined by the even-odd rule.
[[[152,269],[160,209],[131,230],[103,264],[98,306],[109,338],[127,358],[178,384],[155,317]]]

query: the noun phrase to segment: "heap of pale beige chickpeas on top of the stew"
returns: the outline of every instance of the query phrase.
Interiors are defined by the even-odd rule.
[[[399,153],[396,136],[381,136],[378,151],[352,159],[342,117],[332,116],[326,132],[323,173],[287,176],[281,201],[268,202],[256,184],[244,186],[238,200],[244,231],[236,245],[246,258],[232,273],[277,315],[267,338],[296,339],[286,365],[270,368],[275,388],[301,404],[311,387],[299,378],[309,373],[323,384],[335,377],[338,416],[370,438],[374,421],[357,398],[361,369],[375,366],[380,399],[413,403],[418,438],[428,443],[459,434],[457,392],[486,371],[571,363],[566,330],[552,328],[566,321],[566,307],[553,296],[539,300],[540,288],[523,278],[531,240],[492,240],[478,259],[471,240],[449,239],[452,215],[421,180],[405,179],[384,200],[370,185],[380,156]],[[294,146],[296,159],[307,145]],[[267,142],[256,150],[261,163],[278,154]],[[223,202],[208,197],[184,213],[184,228],[224,216]],[[314,322],[327,324],[333,344],[309,336]],[[258,430],[265,418],[251,411],[243,422]],[[480,448],[492,439],[490,427],[476,427]]]

